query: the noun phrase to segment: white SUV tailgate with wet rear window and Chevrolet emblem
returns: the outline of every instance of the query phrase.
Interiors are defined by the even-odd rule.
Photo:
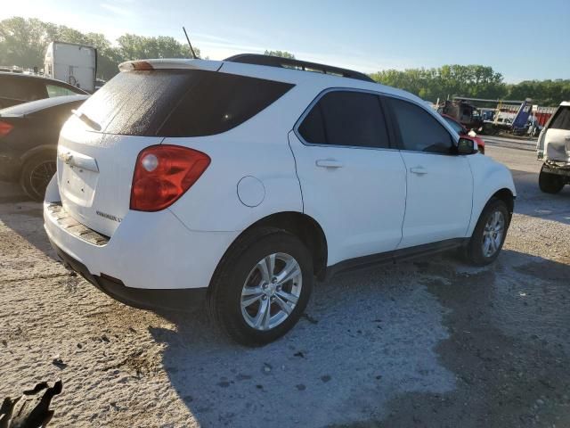
[[[61,129],[57,177],[72,218],[111,236],[129,210],[134,165],[160,144],[160,124],[183,94],[183,71],[121,72],[90,96]]]

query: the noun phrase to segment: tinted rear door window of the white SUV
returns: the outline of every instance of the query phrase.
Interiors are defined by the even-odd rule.
[[[379,96],[332,91],[322,96],[298,128],[307,143],[389,148]]]

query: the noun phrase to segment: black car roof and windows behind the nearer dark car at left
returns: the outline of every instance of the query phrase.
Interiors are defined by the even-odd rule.
[[[44,98],[76,94],[87,93],[54,78],[0,72],[0,109]]]

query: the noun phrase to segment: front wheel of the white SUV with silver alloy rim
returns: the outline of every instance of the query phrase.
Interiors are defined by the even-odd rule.
[[[509,217],[505,202],[492,199],[487,203],[466,248],[469,263],[485,266],[497,259],[507,236]]]

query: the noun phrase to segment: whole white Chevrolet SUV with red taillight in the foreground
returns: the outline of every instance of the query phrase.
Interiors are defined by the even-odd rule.
[[[501,250],[509,170],[416,96],[253,54],[120,70],[61,130],[44,210],[61,258],[118,300],[205,297],[233,339],[263,344],[295,325],[314,277]]]

